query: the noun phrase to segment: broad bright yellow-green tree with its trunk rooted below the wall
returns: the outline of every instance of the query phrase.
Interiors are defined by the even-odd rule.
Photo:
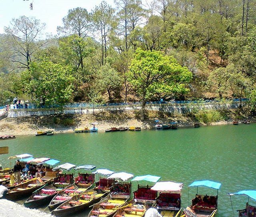
[[[192,79],[192,73],[160,51],[137,49],[128,79],[142,102],[140,118],[143,121],[146,101],[156,94],[177,96],[188,93],[186,85]]]

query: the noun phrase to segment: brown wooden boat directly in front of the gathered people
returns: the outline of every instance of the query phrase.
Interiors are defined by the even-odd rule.
[[[21,185],[18,185],[14,189],[9,190],[5,197],[8,200],[16,200],[30,196],[34,191],[50,181],[53,180],[42,181],[40,178],[34,178],[28,182],[21,183]]]

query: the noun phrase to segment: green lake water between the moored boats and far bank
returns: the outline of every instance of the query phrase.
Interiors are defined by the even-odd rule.
[[[184,183],[182,207],[194,197],[194,180],[222,183],[218,194],[218,217],[232,215],[229,192],[256,189],[256,124],[179,128],[178,130],[144,130],[56,134],[53,136],[18,136],[0,141],[9,146],[9,154],[0,155],[0,164],[9,166],[9,156],[29,153],[34,157],[58,159],[61,163],[91,164],[98,169],[136,175],[161,176],[162,181]],[[14,162],[12,162],[14,164]],[[137,182],[133,183],[135,190]],[[198,193],[216,194],[215,189],[198,188]],[[248,197],[233,196],[235,216]],[[250,200],[252,205],[255,202]],[[74,216],[86,216],[87,212]]]

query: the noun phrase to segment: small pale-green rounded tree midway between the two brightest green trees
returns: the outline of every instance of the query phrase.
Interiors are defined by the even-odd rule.
[[[108,63],[103,65],[97,71],[97,86],[108,93],[108,101],[112,102],[112,94],[116,92],[117,89],[120,89],[122,85],[122,76],[118,71],[112,68]]]

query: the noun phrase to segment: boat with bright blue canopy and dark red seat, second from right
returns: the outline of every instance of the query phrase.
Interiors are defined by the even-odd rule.
[[[202,181],[194,181],[189,185],[192,186],[206,186],[217,189],[217,195],[198,195],[192,199],[192,205],[187,207],[183,211],[184,217],[214,217],[217,213],[217,205],[218,205],[218,189],[220,188],[220,183],[210,181],[210,180],[202,180]]]

